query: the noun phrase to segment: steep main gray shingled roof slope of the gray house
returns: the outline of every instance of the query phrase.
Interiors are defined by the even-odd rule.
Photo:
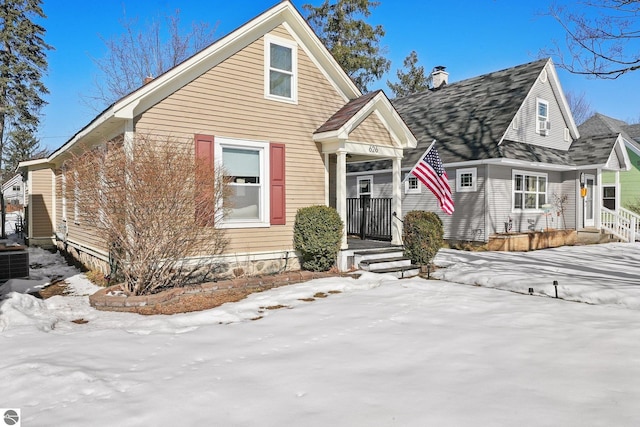
[[[542,59],[396,99],[418,138],[403,167],[413,167],[432,140],[444,163],[502,157],[498,142],[547,64]]]

